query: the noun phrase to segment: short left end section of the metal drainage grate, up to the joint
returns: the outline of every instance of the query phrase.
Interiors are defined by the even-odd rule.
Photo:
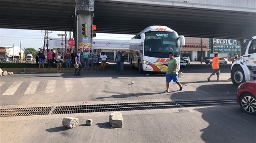
[[[0,109],[0,116],[48,115],[52,107],[28,107]]]

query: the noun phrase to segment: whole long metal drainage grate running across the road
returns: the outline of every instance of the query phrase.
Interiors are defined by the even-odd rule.
[[[179,107],[198,107],[213,105],[237,104],[236,99],[220,100],[194,100],[177,102],[137,102],[137,103],[116,103],[98,105],[77,105],[77,106],[58,106],[58,107],[31,107],[0,109],[0,116],[28,116],[28,115],[48,115],[48,114],[73,114],[106,111],[133,111],[146,109],[170,109]]]

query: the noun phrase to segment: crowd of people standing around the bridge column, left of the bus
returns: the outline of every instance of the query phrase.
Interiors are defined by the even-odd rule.
[[[57,65],[57,73],[60,73],[60,68],[63,68],[63,61],[66,62],[66,68],[76,68],[75,65],[78,65],[78,69],[98,69],[102,68],[102,70],[105,70],[107,56],[104,52],[100,54],[96,49],[93,49],[93,52],[88,49],[84,49],[84,51],[81,51],[80,49],[76,50],[73,49],[72,53],[70,49],[67,49],[65,53],[65,58],[63,57],[63,53],[60,51],[60,48],[57,48],[57,51],[54,53],[53,49],[48,49],[46,56],[45,56],[45,48],[39,48],[39,51],[36,52],[36,59],[37,63],[39,64],[39,68],[41,68],[41,65],[43,68],[44,63],[48,62],[48,68],[53,68],[53,63],[56,63]],[[47,58],[45,58],[47,57]],[[101,66],[99,64],[99,61],[101,60]],[[75,72],[75,75],[80,75],[80,70],[78,70],[78,73]]]

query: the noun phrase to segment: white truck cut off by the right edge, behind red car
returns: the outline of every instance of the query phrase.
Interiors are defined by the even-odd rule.
[[[231,65],[231,80],[233,85],[240,85],[243,82],[256,80],[256,36],[253,36],[246,46],[243,56],[239,57]]]

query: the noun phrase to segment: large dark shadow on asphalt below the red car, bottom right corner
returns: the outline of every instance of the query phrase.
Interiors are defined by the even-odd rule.
[[[243,113],[239,106],[195,109],[208,122],[201,129],[201,138],[206,143],[254,143],[256,141],[256,116]]]

